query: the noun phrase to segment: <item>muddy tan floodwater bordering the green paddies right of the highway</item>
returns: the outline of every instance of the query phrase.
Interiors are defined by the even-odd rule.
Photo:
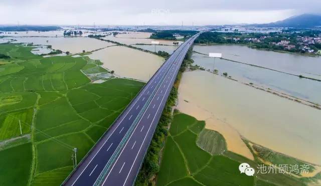
[[[248,156],[235,134],[308,162],[321,164],[321,112],[207,71],[183,74],[178,109],[206,120],[228,148]],[[240,144],[240,145],[239,145]]]

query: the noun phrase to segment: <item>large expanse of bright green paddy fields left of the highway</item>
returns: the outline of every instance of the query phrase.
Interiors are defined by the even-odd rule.
[[[42,57],[0,44],[0,185],[59,185],[144,83],[111,78],[88,57]],[[21,131],[19,120],[21,121]]]

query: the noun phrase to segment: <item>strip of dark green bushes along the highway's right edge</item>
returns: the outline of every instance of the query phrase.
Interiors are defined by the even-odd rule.
[[[135,185],[150,185],[154,182],[155,177],[159,171],[159,162],[161,159],[161,151],[165,144],[166,136],[168,135],[169,124],[173,117],[173,106],[176,104],[178,87],[185,71],[186,66],[191,63],[192,49],[190,48],[185,59],[181,65],[179,73],[176,77],[174,86],[171,90],[169,98],[167,99],[165,109],[159,119],[154,135],[151,139],[144,161],[140,171],[136,177]]]

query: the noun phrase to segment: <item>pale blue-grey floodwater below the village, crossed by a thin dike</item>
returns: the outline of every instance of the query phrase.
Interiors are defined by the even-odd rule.
[[[312,75],[312,73],[321,73],[321,57],[300,56],[296,54],[263,51],[251,49],[246,46],[234,45],[196,45],[194,46],[194,50],[202,53],[208,53],[209,51],[222,52],[224,58],[238,60],[255,65],[261,65],[268,68],[295,74],[299,74],[300,71],[306,71],[309,73],[309,76],[316,76],[315,78],[321,79],[321,76]],[[195,52],[193,53],[192,58],[194,59],[195,64],[201,65],[206,69],[213,70],[213,58]],[[284,92],[294,97],[321,104],[321,96],[318,93],[321,92],[320,81],[299,78],[294,75],[289,75],[286,73],[237,63],[220,58],[215,59],[215,68],[219,70],[219,73],[227,72],[228,75],[232,76],[232,78],[241,80],[243,82],[251,82],[257,85],[262,85],[264,87]]]

